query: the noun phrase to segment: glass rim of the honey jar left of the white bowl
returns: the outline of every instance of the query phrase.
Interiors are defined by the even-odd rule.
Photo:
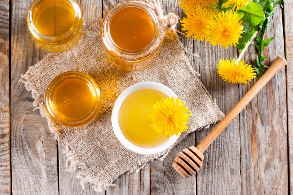
[[[90,113],[86,117],[63,120],[62,117],[59,115],[59,113],[56,110],[54,110],[54,106],[53,106],[53,102],[52,102],[52,96],[54,93],[54,89],[57,87],[57,85],[60,82],[64,81],[64,79],[69,79],[69,78],[83,79],[87,83],[88,87],[91,87],[94,92],[92,94],[96,97],[97,102],[96,102],[96,104],[93,104],[93,106],[90,110]],[[52,118],[54,118],[54,120],[56,120],[60,124],[68,126],[68,127],[77,127],[77,126],[85,125],[88,122],[90,122],[91,120],[93,120],[99,111],[99,108],[101,105],[100,89],[98,88],[98,84],[96,83],[96,81],[92,77],[90,77],[89,75],[82,73],[82,72],[79,72],[79,71],[67,71],[67,72],[64,72],[64,73],[57,75],[50,82],[50,84],[47,87],[46,94],[45,94],[45,103],[46,103],[46,107],[47,107],[49,114],[52,116]]]

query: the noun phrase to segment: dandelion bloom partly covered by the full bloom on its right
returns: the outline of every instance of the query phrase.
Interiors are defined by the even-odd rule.
[[[193,35],[193,39],[199,39],[200,41],[208,40],[207,34],[204,32],[209,20],[213,20],[214,15],[218,13],[217,9],[209,9],[200,6],[191,13],[186,13],[186,18],[183,18],[180,22],[182,30],[185,31],[187,38]]]

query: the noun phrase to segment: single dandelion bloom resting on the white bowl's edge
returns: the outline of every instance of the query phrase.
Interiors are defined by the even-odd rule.
[[[190,109],[184,105],[185,101],[179,98],[175,101],[173,97],[156,101],[148,114],[151,119],[149,126],[166,137],[186,131],[191,113],[187,113]]]

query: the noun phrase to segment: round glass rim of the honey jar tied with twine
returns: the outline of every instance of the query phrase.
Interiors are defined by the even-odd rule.
[[[122,49],[113,41],[113,39],[111,37],[111,33],[110,33],[111,19],[118,11],[120,11],[121,9],[126,8],[126,7],[136,7],[136,8],[142,9],[147,14],[149,14],[152,21],[154,22],[154,27],[155,27],[154,37],[152,38],[151,42],[142,49],[135,50],[135,51]],[[139,55],[139,54],[142,54],[142,53],[148,51],[149,49],[151,49],[154,46],[154,44],[156,44],[157,39],[159,38],[159,34],[158,34],[159,21],[158,21],[158,18],[156,17],[154,10],[150,6],[148,6],[148,4],[142,3],[140,1],[123,1],[119,4],[116,4],[112,8],[110,8],[109,11],[106,13],[106,16],[103,18],[103,22],[101,25],[101,34],[104,34],[103,32],[107,32],[107,33],[105,33],[106,34],[105,41],[107,41],[107,44],[109,44],[109,46],[111,46],[111,47],[113,47],[113,49],[115,49],[115,52],[134,56],[134,55]],[[105,42],[103,40],[102,40],[102,42],[105,45]]]

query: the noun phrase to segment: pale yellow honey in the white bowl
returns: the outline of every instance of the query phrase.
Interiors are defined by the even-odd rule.
[[[118,123],[126,139],[142,148],[157,147],[168,141],[168,137],[149,127],[147,116],[151,106],[166,97],[156,89],[140,89],[127,96],[118,112]]]

